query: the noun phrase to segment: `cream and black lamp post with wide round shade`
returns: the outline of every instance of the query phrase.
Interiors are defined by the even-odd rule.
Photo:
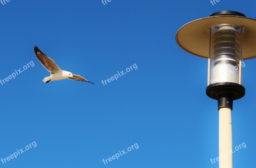
[[[233,100],[245,95],[243,60],[256,57],[256,19],[235,11],[220,11],[182,26],[178,45],[188,53],[208,59],[206,95],[218,100],[219,155],[233,151]],[[233,154],[220,157],[220,168],[233,168]]]

